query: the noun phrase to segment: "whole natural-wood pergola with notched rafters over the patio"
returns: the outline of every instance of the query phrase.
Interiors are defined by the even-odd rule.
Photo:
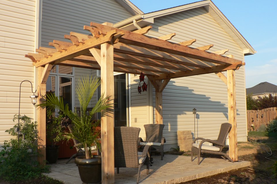
[[[232,55],[222,56],[228,49],[208,52],[213,45],[192,48],[196,40],[172,43],[175,33],[159,38],[145,36],[152,26],[130,32],[113,27],[113,24],[90,23],[84,26],[90,35],[71,32],[64,38],[71,42],[54,40],[49,45],[55,48],[40,47],[39,54],[28,53],[25,57],[33,61],[38,69],[38,102],[42,103],[46,94],[46,81],[53,65],[64,65],[101,70],[101,91],[105,96],[114,96],[114,71],[122,73],[145,73],[155,87],[156,123],[162,124],[162,92],[170,79],[216,73],[227,85],[228,121],[232,124],[229,133],[230,158],[237,161],[237,122],[235,70],[244,62]],[[227,71],[227,77],[221,73]],[[109,109],[102,117],[102,183],[114,183],[114,114]],[[38,130],[41,137],[41,159],[45,160],[45,109],[38,109]]]

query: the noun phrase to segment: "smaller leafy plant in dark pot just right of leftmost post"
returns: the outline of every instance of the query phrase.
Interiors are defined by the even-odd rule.
[[[49,108],[46,113],[46,160],[49,164],[54,164],[58,160],[60,147],[56,144],[65,139],[63,133],[67,126],[68,118],[62,111],[58,112],[58,115],[55,115],[55,111]]]

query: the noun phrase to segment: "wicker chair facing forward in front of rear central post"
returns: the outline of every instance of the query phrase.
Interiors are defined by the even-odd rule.
[[[163,160],[163,144],[166,139],[163,136],[164,124],[147,124],[144,125],[146,133],[146,141],[144,142],[140,138],[140,145],[149,145],[157,149],[157,152],[161,152],[161,160]]]

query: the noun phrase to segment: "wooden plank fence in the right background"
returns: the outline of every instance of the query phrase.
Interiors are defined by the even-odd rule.
[[[247,128],[248,131],[253,131],[251,127],[254,124],[255,130],[259,129],[260,126],[266,125],[272,119],[277,118],[277,107],[270,107],[262,110],[247,110]]]

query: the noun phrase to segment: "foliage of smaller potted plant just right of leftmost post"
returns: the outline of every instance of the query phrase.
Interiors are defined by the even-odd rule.
[[[68,118],[61,112],[58,112],[58,116],[55,116],[55,112],[51,109],[47,109],[47,120],[46,120],[46,137],[47,141],[54,147],[56,143],[64,140],[64,130],[66,128],[66,123]]]

